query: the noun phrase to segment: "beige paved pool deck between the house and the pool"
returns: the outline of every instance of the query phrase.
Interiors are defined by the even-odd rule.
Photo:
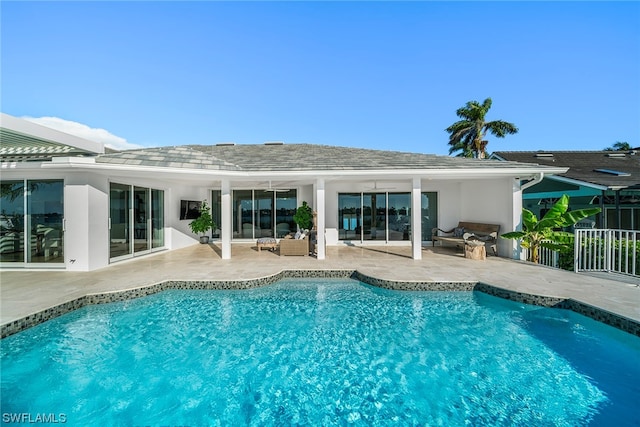
[[[452,248],[328,247],[327,258],[279,256],[255,245],[234,244],[222,260],[216,245],[114,263],[92,272],[0,271],[0,325],[24,319],[85,295],[145,287],[164,281],[249,280],[282,270],[357,270],[389,281],[481,282],[517,293],[571,299],[640,324],[640,280],[613,274],[591,276],[504,258],[465,259]]]

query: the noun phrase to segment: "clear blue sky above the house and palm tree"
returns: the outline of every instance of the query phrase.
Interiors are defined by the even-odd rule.
[[[640,146],[639,2],[7,2],[1,110],[113,146]],[[80,132],[81,133],[81,132]]]

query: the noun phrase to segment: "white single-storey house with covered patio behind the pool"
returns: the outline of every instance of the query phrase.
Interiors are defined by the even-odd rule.
[[[332,245],[406,245],[432,227],[520,223],[522,180],[566,172],[497,160],[310,144],[187,145],[113,152],[2,114],[3,267],[94,270],[197,242],[191,211],[207,200],[223,259],[231,245],[296,230],[317,212],[317,258]],[[512,240],[502,256],[517,257]]]

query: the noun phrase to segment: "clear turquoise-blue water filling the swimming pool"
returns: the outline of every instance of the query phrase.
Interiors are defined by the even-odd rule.
[[[2,416],[71,426],[637,425],[639,360],[639,338],[565,310],[288,280],[85,307],[5,338]]]

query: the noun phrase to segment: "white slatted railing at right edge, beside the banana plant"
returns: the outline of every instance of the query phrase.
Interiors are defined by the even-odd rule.
[[[576,229],[574,271],[640,275],[640,231]]]

